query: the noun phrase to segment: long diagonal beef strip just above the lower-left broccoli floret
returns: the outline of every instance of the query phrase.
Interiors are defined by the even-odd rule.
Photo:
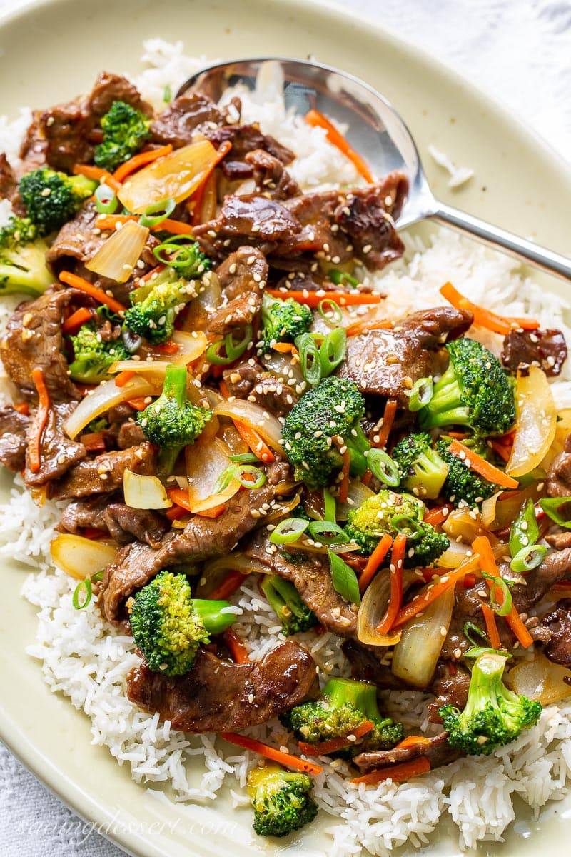
[[[288,464],[271,464],[262,488],[240,491],[229,500],[219,518],[190,519],[184,530],[171,530],[158,550],[134,542],[122,548],[105,570],[99,607],[110,622],[125,620],[125,602],[167,566],[191,566],[229,554],[242,536],[259,524],[277,496],[277,486],[287,479]]]

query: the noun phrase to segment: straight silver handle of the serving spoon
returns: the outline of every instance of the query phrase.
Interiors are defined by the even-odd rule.
[[[499,226],[492,226],[485,220],[473,217],[472,214],[459,211],[457,208],[437,202],[437,208],[431,212],[431,217],[454,229],[470,232],[475,238],[485,243],[495,244],[506,250],[510,255],[531,262],[536,267],[555,273],[563,279],[571,279],[571,259],[554,253],[553,250],[539,247],[526,238],[513,235]]]

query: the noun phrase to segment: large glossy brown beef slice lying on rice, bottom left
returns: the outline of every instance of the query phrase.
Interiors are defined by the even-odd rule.
[[[265,723],[316,698],[318,680],[309,652],[287,640],[258,662],[231,663],[201,650],[191,671],[175,678],[142,662],[128,674],[127,695],[173,728],[200,734]]]

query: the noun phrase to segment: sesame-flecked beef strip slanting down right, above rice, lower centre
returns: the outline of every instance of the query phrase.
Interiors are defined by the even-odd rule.
[[[297,550],[290,559],[275,548],[267,532],[260,530],[244,554],[267,566],[268,573],[290,580],[327,631],[339,637],[353,637],[357,630],[357,611],[334,589],[329,560],[322,554]]]

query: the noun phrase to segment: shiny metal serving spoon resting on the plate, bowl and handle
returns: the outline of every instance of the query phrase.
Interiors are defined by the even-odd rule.
[[[485,223],[458,209],[438,202],[431,193],[420,163],[418,149],[395,108],[376,90],[339,69],[288,57],[258,57],[211,65],[182,84],[177,95],[192,89],[217,101],[228,87],[241,83],[253,89],[259,72],[274,72],[283,81],[283,98],[288,110],[305,116],[315,109],[348,126],[345,134],[372,171],[384,176],[391,170],[403,172],[409,182],[407,201],[397,227],[404,229],[431,218],[469,232],[485,243],[495,244],[532,265],[571,279],[571,260]]]

